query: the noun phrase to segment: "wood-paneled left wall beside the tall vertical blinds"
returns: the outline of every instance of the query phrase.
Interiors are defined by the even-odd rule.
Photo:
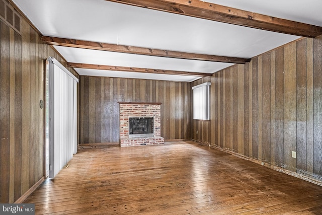
[[[53,56],[64,64],[26,20],[20,24],[17,33],[0,21],[1,203],[15,202],[45,174],[44,109],[39,107],[44,59]]]

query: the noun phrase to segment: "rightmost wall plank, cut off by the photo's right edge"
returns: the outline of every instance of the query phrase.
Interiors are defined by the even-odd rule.
[[[313,173],[322,175],[322,37],[313,40]]]

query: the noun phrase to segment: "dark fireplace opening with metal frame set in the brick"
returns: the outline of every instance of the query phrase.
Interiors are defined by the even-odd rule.
[[[129,137],[151,137],[154,117],[129,117]]]

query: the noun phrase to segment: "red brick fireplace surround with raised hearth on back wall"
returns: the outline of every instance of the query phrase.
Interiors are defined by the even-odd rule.
[[[162,103],[134,103],[118,102],[120,104],[120,146],[148,146],[164,144],[161,137],[161,104]],[[153,132],[142,132],[137,137],[130,137],[129,118],[137,121],[143,118],[153,118]],[[131,129],[132,130],[132,129]],[[133,135],[131,135],[133,136]]]

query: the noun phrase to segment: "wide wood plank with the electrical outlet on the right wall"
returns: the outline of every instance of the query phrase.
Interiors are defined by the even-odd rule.
[[[284,162],[286,168],[294,170],[296,159],[296,43],[285,47],[284,52]]]

